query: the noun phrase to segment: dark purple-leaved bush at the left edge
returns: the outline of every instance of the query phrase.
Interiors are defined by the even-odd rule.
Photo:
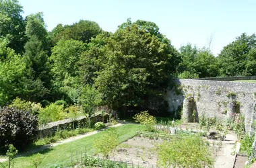
[[[17,108],[0,108],[0,146],[19,148],[32,142],[38,132],[38,118]]]

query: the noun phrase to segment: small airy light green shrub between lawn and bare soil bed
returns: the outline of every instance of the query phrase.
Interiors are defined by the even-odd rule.
[[[119,144],[118,140],[119,134],[117,129],[109,128],[102,138],[94,140],[94,146],[98,153],[102,153],[107,158],[109,153]]]

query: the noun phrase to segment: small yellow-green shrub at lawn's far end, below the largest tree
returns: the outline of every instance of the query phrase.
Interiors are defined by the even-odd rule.
[[[135,114],[133,117],[135,122],[139,122],[140,124],[146,126],[148,131],[154,132],[154,125],[156,124],[156,118],[154,116],[150,116],[148,111],[140,112],[139,114]]]

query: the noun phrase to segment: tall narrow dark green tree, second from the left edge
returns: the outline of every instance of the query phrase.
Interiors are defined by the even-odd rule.
[[[24,46],[24,60],[27,69],[26,82],[30,85],[28,86],[27,97],[21,98],[40,101],[49,95],[51,89],[51,68],[48,60],[49,43],[42,13],[28,15],[26,19],[26,36],[29,40]],[[38,93],[31,96],[34,91]]]

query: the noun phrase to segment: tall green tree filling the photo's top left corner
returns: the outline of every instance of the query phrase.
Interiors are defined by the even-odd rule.
[[[0,38],[7,38],[8,47],[16,53],[24,52],[26,43],[22,5],[18,0],[0,1]]]

